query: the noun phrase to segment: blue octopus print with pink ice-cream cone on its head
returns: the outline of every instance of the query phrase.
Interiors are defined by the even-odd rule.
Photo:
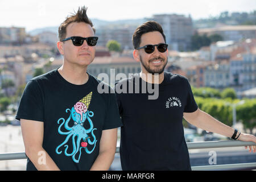
[[[69,138],[72,137],[72,144],[73,144],[73,151],[68,154],[68,145],[66,144],[65,147],[65,152],[64,154],[66,156],[72,156],[72,159],[74,162],[79,163],[80,157],[81,157],[81,152],[82,150],[85,150],[87,154],[91,154],[96,146],[96,137],[93,133],[93,122],[90,118],[93,117],[94,113],[93,111],[89,111],[88,107],[90,104],[90,100],[92,98],[92,92],[90,92],[87,96],[82,98],[79,102],[77,102],[72,109],[66,109],[66,113],[68,111],[70,112],[70,115],[68,119],[65,121],[64,118],[60,118],[57,123],[60,124],[58,132],[61,135],[67,135],[65,138],[64,142],[61,143],[59,146],[56,148],[56,153],[61,154],[62,151],[59,151],[59,148],[66,144],[69,140]],[[69,121],[71,121],[71,118],[73,119],[74,125],[72,127],[69,126]],[[89,129],[85,129],[85,121],[89,123]],[[87,123],[86,122],[86,123]],[[68,130],[67,132],[61,131],[61,127],[64,125],[65,129]],[[89,134],[92,136],[92,139],[89,137]],[[81,142],[82,141],[82,142]],[[81,142],[81,146],[80,146]],[[93,145],[92,150],[88,150],[88,144]],[[79,152],[78,158],[76,158],[77,153]]]

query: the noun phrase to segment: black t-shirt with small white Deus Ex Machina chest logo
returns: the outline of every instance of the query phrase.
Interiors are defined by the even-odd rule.
[[[116,93],[123,122],[120,143],[122,169],[191,170],[182,119],[183,112],[196,111],[197,104],[187,78],[164,72],[156,100],[148,100],[150,94],[141,88],[144,84],[149,88],[154,86],[138,75],[115,84],[116,92],[124,85],[127,90],[133,86],[135,92],[139,85],[139,93]]]

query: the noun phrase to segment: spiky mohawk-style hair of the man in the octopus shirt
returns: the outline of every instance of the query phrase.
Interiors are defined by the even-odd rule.
[[[67,34],[67,26],[73,22],[87,23],[92,27],[92,29],[95,33],[96,30],[93,27],[92,21],[86,15],[86,11],[87,11],[87,7],[85,7],[85,6],[79,7],[77,12],[71,14],[71,16],[67,16],[67,18],[64,20],[64,22],[60,24],[60,26],[59,26],[59,40],[60,41],[65,39],[65,36]]]

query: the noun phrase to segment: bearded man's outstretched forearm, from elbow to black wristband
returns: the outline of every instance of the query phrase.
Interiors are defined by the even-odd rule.
[[[211,115],[201,110],[198,117],[191,123],[192,125],[195,125],[200,129],[210,131],[212,133],[221,134],[226,137],[232,137],[232,135],[234,134],[234,129],[232,127],[225,125],[224,123],[218,121]]]

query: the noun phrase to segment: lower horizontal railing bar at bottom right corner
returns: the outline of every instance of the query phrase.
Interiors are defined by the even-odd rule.
[[[242,163],[242,164],[223,164],[212,166],[193,166],[192,171],[202,171],[210,169],[235,169],[235,168],[256,168],[256,163]]]

